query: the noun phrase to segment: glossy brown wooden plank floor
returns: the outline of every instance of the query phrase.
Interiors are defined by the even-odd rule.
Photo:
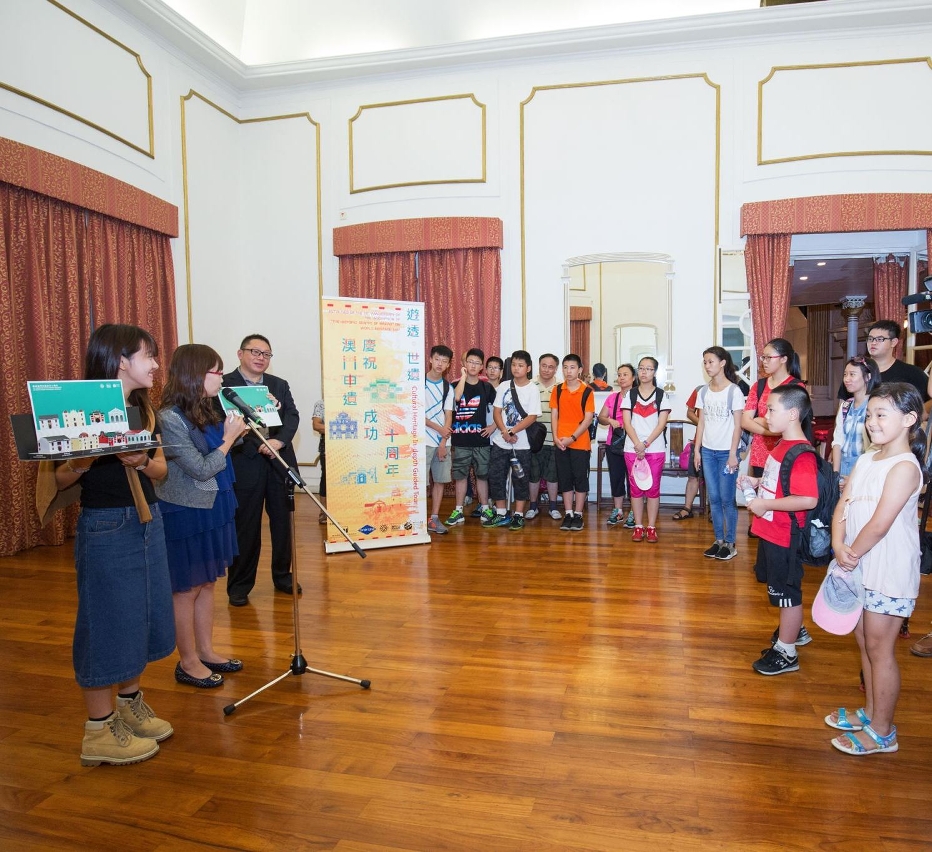
[[[822,718],[860,706],[854,640],[807,617],[801,670],[755,674],[776,614],[753,542],[703,559],[711,526],[664,508],[660,544],[635,545],[590,507],[580,533],[470,520],[363,561],[325,557],[298,504],[302,650],[371,690],[288,677],[223,715],[289,666],[266,562],[250,606],[218,588],[217,646],[242,673],[199,691],[175,658],[147,670],[175,735],[136,766],[79,765],[70,546],[0,559],[0,848],[932,849],[932,659],[900,643],[899,753],[835,751]]]

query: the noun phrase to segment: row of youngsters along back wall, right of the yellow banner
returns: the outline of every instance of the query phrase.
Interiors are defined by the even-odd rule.
[[[452,357],[448,347],[435,346],[426,377],[427,465],[432,481],[428,532],[443,535],[447,526],[465,522],[470,470],[476,476],[479,501],[472,517],[482,526],[523,529],[526,521],[540,513],[540,483],[545,480],[551,518],[562,518],[560,530],[564,532],[582,530],[589,494],[592,427],[597,419],[609,427],[609,443],[612,434],[618,433],[616,449],[609,458],[615,509],[608,523],[614,526],[623,520],[621,506],[627,490],[632,497],[629,525],[634,528],[633,540],[657,542],[660,474],[666,457],[662,436],[670,405],[657,387],[654,358],[641,359],[636,390],[632,390],[633,382],[627,382],[629,376],[633,379],[634,367],[626,364],[619,368],[620,390],[609,396],[597,417],[594,388],[583,381],[578,355],[566,355],[562,363],[556,355],[542,355],[538,379],[532,381],[531,356],[518,350],[509,359],[509,378],[502,381],[505,365],[501,359],[493,356],[486,360],[482,350],[474,348],[463,356],[455,385],[444,378]],[[558,365],[563,372],[559,383],[555,378]],[[483,368],[485,380],[480,377]],[[608,387],[604,379],[595,381]],[[527,430],[534,424],[538,424],[535,428],[544,427],[546,434],[543,445],[532,452]],[[630,441],[627,446],[626,441]],[[643,478],[632,473],[639,461],[648,472]],[[509,473],[514,496],[511,512],[507,502]],[[440,505],[444,486],[451,479],[456,502],[444,525]],[[562,514],[557,509],[558,490],[563,496]]]

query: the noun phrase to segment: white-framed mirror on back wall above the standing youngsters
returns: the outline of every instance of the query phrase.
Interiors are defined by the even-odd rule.
[[[660,362],[657,380],[673,380],[673,259],[664,254],[619,253],[570,258],[564,267],[568,352],[585,364],[605,364],[609,380],[624,363],[645,355]]]

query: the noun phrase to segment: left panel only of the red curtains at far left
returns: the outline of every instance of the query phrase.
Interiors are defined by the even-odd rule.
[[[45,530],[35,510],[36,465],[17,458],[11,414],[28,414],[26,382],[80,379],[90,334],[84,213],[43,195],[0,183],[0,555],[60,544],[75,510]]]

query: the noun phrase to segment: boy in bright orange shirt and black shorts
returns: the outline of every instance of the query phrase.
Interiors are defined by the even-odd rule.
[[[567,355],[563,359],[563,383],[550,392],[553,412],[553,453],[557,463],[557,482],[563,492],[566,515],[560,529],[576,532],[583,528],[582,511],[589,495],[589,424],[595,417],[592,388],[580,381],[582,359]]]

